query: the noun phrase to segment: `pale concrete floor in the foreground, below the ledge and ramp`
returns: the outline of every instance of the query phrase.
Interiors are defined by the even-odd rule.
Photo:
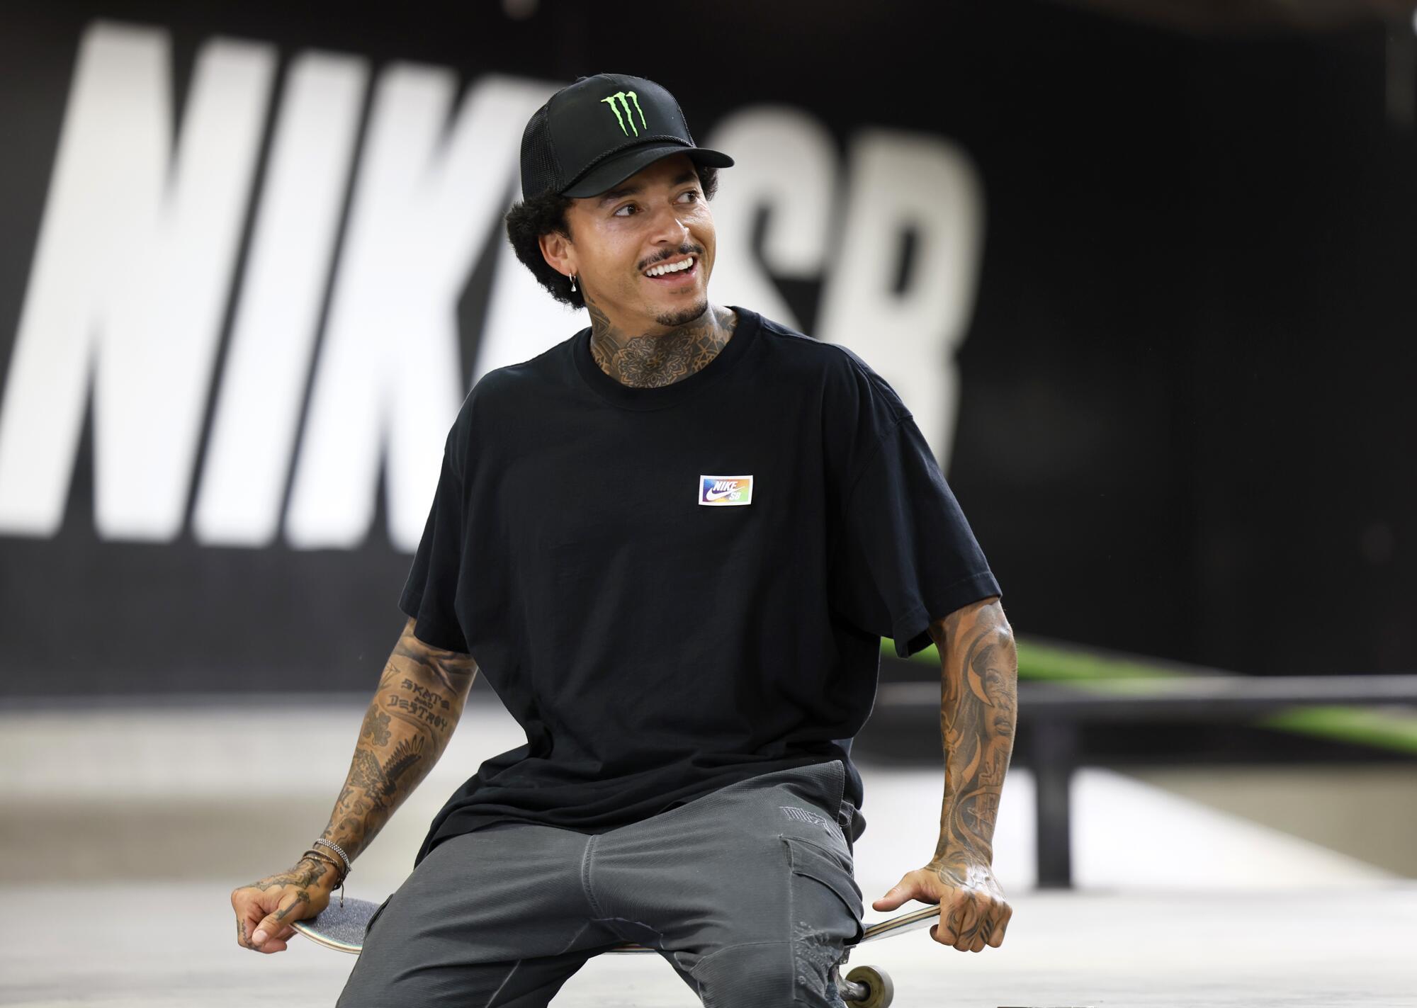
[[[238,949],[227,888],[11,886],[0,893],[0,1004],[27,1008],[333,1005],[353,957],[293,939]],[[1417,889],[1292,893],[1017,893],[999,949],[959,953],[913,932],[863,946],[897,1008],[998,1005],[1417,1004]],[[599,956],[557,1008],[694,1008],[657,956]],[[752,1007],[760,1008],[760,1007]]]

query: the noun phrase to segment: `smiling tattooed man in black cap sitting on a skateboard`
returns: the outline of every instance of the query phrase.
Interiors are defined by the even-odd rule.
[[[232,893],[238,941],[285,949],[438,759],[480,667],[527,743],[439,813],[343,1008],[546,1005],[621,941],[706,1004],[840,1005],[866,825],[850,739],[883,636],[939,648],[947,780],[934,857],[874,909],[938,902],[937,941],[1003,939],[998,583],[884,379],[710,304],[707,200],[731,164],[642,78],[582,78],[527,125],[507,234],[591,327],[468,395],[330,824]]]

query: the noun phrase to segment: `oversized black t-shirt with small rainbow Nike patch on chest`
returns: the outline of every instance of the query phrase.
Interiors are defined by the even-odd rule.
[[[604,832],[832,759],[859,810],[880,638],[905,657],[999,595],[890,385],[734,310],[670,385],[601,371],[587,328],[463,401],[400,607],[472,654],[527,743],[449,798],[419,859],[497,821]]]

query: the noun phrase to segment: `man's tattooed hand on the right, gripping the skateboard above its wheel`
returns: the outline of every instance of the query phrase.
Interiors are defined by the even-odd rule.
[[[931,861],[907,872],[871,906],[894,910],[907,899],[939,903],[939,923],[930,927],[930,937],[959,951],[998,949],[1013,916],[993,869],[969,861]]]

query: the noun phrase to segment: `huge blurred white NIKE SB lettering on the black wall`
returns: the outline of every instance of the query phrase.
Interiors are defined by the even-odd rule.
[[[446,68],[394,62],[371,81],[363,57],[315,51],[281,75],[273,45],[213,38],[173,129],[170,68],[160,28],[95,21],[79,44],[0,386],[0,535],[60,528],[92,389],[102,538],[171,541],[191,501],[201,544],[356,548],[383,469],[387,535],[411,552],[466,391],[456,303],[516,197],[521,127],[557,85],[486,75],[459,98]],[[948,466],[983,219],[969,159],[862,129],[843,161],[786,106],[738,109],[707,146],[737,159],[713,205],[714,300],[799,326],[774,280],[819,280],[818,336],[876,367]],[[473,381],[582,324],[496,249]],[[700,486],[700,504],[751,500],[751,477],[701,479],[750,483],[713,500]]]

